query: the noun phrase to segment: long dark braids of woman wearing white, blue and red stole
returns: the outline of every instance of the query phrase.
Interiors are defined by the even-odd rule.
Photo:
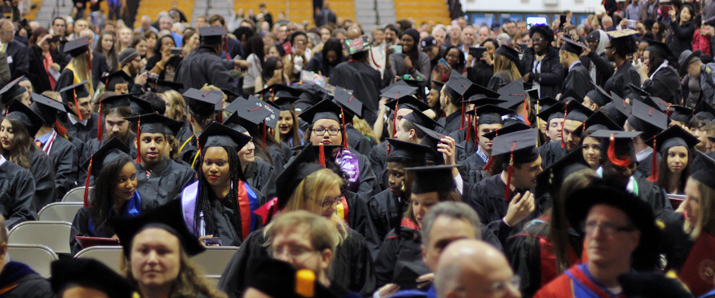
[[[228,154],[228,167],[229,167],[229,183],[231,183],[231,190],[228,192],[228,197],[230,199],[225,200],[226,204],[228,207],[232,208],[234,210],[233,216],[231,216],[231,222],[233,223],[233,226],[236,228],[236,231],[241,234],[241,236],[245,237],[248,235],[243,235],[243,230],[241,229],[241,212],[239,212],[238,208],[238,200],[234,198],[238,198],[238,181],[241,180],[241,177],[243,176],[243,172],[241,170],[241,160],[238,158],[238,153],[236,152],[236,149],[233,149],[232,147],[228,146],[221,146],[224,150],[226,150],[226,153]],[[199,160],[199,165],[202,168],[199,168],[197,171],[198,177],[199,177],[199,195],[196,198],[196,208],[194,209],[194,234],[199,235],[200,231],[199,229],[199,220],[202,218],[201,213],[203,213],[203,219],[204,219],[204,224],[206,227],[206,233],[207,234],[213,234],[216,231],[216,223],[214,222],[214,214],[213,214],[213,204],[222,204],[223,202],[217,201],[217,200],[223,200],[223,198],[218,198],[216,194],[211,190],[211,186],[209,185],[208,181],[206,181],[206,176],[204,175],[203,171],[203,164],[204,164],[204,155],[205,153],[201,153],[201,158]]]

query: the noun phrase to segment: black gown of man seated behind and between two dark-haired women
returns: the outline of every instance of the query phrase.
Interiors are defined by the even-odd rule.
[[[189,167],[164,158],[153,169],[135,164],[137,191],[142,198],[142,210],[151,210],[175,199],[185,186],[196,181],[196,172]]]

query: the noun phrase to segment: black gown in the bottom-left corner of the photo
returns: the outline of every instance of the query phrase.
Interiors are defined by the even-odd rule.
[[[14,288],[13,286],[16,285]],[[0,273],[0,288],[10,289],[4,298],[54,298],[50,281],[27,265],[8,262]]]

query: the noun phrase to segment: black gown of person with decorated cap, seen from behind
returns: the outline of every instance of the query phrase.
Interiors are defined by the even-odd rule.
[[[380,72],[367,63],[345,61],[330,71],[330,84],[354,90],[353,95],[363,103],[365,121],[370,125],[375,122],[383,86]]]

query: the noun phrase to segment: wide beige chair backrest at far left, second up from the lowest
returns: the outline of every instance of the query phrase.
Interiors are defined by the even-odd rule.
[[[8,244],[37,244],[55,253],[71,253],[72,224],[62,221],[26,221],[16,225],[8,234]]]

